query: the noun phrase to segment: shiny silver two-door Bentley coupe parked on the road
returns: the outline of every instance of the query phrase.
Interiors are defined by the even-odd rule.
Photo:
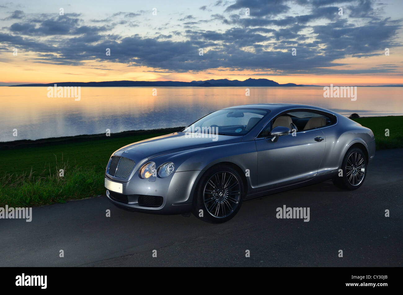
[[[221,223],[243,200],[330,179],[357,189],[374,154],[374,133],[330,110],[246,104],[120,148],[106,167],[106,195],[129,211]]]

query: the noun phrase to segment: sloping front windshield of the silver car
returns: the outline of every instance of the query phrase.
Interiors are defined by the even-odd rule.
[[[269,112],[269,110],[226,108],[197,120],[182,132],[245,135]]]

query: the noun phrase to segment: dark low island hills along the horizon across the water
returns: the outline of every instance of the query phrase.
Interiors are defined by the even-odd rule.
[[[104,81],[104,82],[56,82],[56,83],[32,83],[10,85],[9,87],[323,87],[323,85],[304,85],[295,83],[279,84],[269,79],[246,79],[244,81],[229,79],[210,79],[205,81]],[[341,86],[341,85],[339,85]],[[351,85],[350,85],[351,86]],[[354,85],[352,85],[354,86]],[[400,85],[355,85],[357,87],[403,87]]]

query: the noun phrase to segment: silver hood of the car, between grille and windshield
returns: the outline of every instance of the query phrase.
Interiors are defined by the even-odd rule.
[[[204,135],[206,137],[195,137]],[[207,134],[195,134],[175,132],[167,135],[153,137],[137,141],[117,150],[116,156],[131,158],[130,154],[143,154],[148,159],[164,154],[181,152],[199,148],[206,148],[214,145],[224,145],[241,141],[242,136],[214,135],[215,138],[207,137]]]

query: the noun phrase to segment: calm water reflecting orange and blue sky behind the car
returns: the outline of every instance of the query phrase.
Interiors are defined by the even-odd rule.
[[[324,98],[323,87],[82,87],[81,100],[48,98],[46,87],[0,87],[0,141],[187,126],[238,104],[294,102],[343,115],[402,115],[402,87],[358,87],[357,100]],[[12,135],[13,129],[18,136]]]

